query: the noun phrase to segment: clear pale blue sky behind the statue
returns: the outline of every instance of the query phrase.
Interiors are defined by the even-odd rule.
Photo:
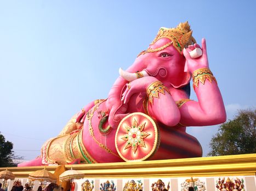
[[[106,98],[160,27],[189,21],[227,116],[255,108],[255,1],[0,1],[0,132],[24,159],[69,118]],[[196,99],[191,89],[191,99]],[[209,151],[218,126],[189,127]]]

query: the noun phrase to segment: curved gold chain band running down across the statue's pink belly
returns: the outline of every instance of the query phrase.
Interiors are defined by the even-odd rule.
[[[104,101],[105,101],[105,100],[104,100]],[[102,102],[101,102],[101,103],[102,103]],[[88,111],[88,113],[87,113],[86,118],[87,118],[87,120],[88,120],[88,122],[89,122],[89,123],[88,123],[88,129],[89,129],[90,135],[92,136],[92,138],[93,138],[93,140],[96,142],[96,144],[98,144],[98,145],[100,146],[100,148],[103,148],[106,152],[111,153],[111,154],[113,154],[113,155],[116,156],[116,157],[120,157],[120,156],[118,156],[116,153],[113,153],[113,152],[110,150],[110,148],[108,148],[106,145],[101,144],[98,140],[96,140],[96,138],[95,138],[95,136],[94,136],[93,126],[92,126],[92,118],[93,118],[93,116],[94,116],[94,112],[95,112],[97,109],[99,109],[99,105],[100,105],[101,103],[98,103],[98,104],[96,104],[95,106],[93,106],[93,108],[90,109],[90,110]]]

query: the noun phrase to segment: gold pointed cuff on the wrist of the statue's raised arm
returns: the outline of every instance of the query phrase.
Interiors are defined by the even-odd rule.
[[[211,83],[213,80],[217,83],[217,80],[213,76],[212,71],[209,70],[208,68],[200,68],[195,70],[194,73],[192,74],[192,78],[193,78],[194,89],[195,87],[198,87],[198,82],[201,82],[204,85],[204,82],[206,81],[206,79],[209,80],[209,82]]]

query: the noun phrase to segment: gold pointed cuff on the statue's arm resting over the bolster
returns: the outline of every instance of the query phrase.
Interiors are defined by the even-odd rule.
[[[169,89],[164,86],[161,81],[151,83],[151,85],[147,87],[147,97],[149,97],[149,102],[153,105],[153,97],[159,98],[158,92],[164,94],[164,90],[170,94]]]

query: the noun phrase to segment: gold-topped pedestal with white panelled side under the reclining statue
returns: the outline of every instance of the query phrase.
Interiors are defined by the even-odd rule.
[[[46,166],[50,172],[58,166]],[[116,190],[123,190],[127,183],[135,182],[143,186],[143,190],[152,190],[151,186],[161,181],[171,191],[186,191],[189,187],[194,190],[218,190],[221,186],[232,189],[256,190],[256,153],[233,156],[184,158],[170,160],[151,160],[143,162],[103,163],[65,165],[66,169],[84,172],[84,178],[72,180],[75,190],[82,190],[81,185],[86,181],[93,182],[93,190],[100,190],[100,184],[113,182]],[[44,166],[8,168],[20,179],[24,186],[28,182],[29,174]],[[0,171],[6,168],[0,168]],[[8,191],[12,189],[13,182],[9,181]],[[129,181],[129,182],[128,182]],[[233,183],[233,184],[232,184]],[[60,184],[60,183],[59,183]],[[33,190],[37,190],[39,182],[35,182]],[[219,188],[218,188],[219,187]],[[233,188],[234,187],[234,188]],[[221,189],[220,189],[221,190]]]

